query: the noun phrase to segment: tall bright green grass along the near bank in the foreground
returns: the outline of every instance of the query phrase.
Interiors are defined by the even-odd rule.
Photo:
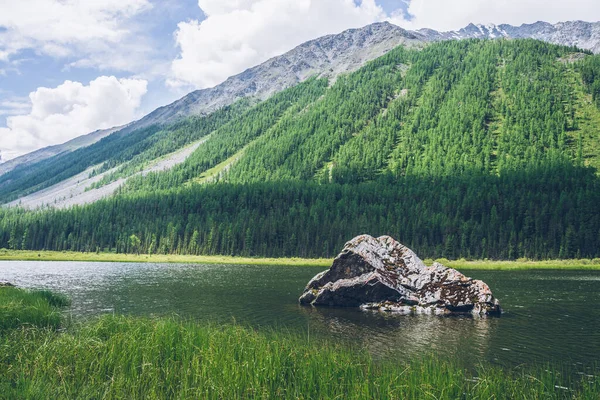
[[[5,290],[0,289],[0,292]],[[8,294],[7,294],[8,293]],[[5,298],[34,296],[5,292]],[[52,298],[47,298],[51,306]],[[30,326],[30,325],[28,325]],[[556,370],[466,371],[452,361],[374,361],[305,334],[107,316],[64,332],[0,334],[0,398],[597,399],[600,379]]]

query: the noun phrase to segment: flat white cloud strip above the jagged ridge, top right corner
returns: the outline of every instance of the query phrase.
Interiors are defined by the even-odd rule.
[[[449,31],[470,23],[598,21],[600,4],[598,0],[412,0],[408,13],[412,16],[410,21],[398,14],[392,22],[409,29]]]

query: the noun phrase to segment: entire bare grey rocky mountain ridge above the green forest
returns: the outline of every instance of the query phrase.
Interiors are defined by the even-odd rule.
[[[600,23],[536,22],[521,26],[470,24],[458,31],[438,32],[432,29],[408,31],[383,22],[360,29],[351,29],[306,42],[213,88],[193,91],[126,127],[94,132],[64,145],[44,148],[2,163],[0,175],[18,166],[32,165],[46,158],[89,146],[113,132],[126,134],[155,124],[169,124],[190,115],[206,115],[244,97],[264,100],[314,75],[335,79],[339,74],[355,71],[366,62],[382,56],[399,45],[422,47],[435,41],[473,38],[532,38],[599,53]]]

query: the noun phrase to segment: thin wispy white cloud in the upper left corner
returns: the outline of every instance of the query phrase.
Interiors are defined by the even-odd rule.
[[[120,54],[130,19],[149,7],[148,0],[0,0],[0,61],[32,49],[117,68],[111,52]]]

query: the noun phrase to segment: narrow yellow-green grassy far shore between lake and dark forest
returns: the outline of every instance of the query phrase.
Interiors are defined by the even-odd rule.
[[[331,266],[333,259],[327,258],[263,258],[232,256],[193,256],[174,254],[115,254],[115,253],[79,253],[62,251],[0,250],[0,261],[80,261],[80,262],[132,262],[132,263],[174,263],[174,264],[230,264],[230,265],[287,265],[299,267]],[[426,259],[431,265],[434,260]],[[465,270],[600,270],[600,259],[582,260],[446,260],[438,262],[456,269]]]

